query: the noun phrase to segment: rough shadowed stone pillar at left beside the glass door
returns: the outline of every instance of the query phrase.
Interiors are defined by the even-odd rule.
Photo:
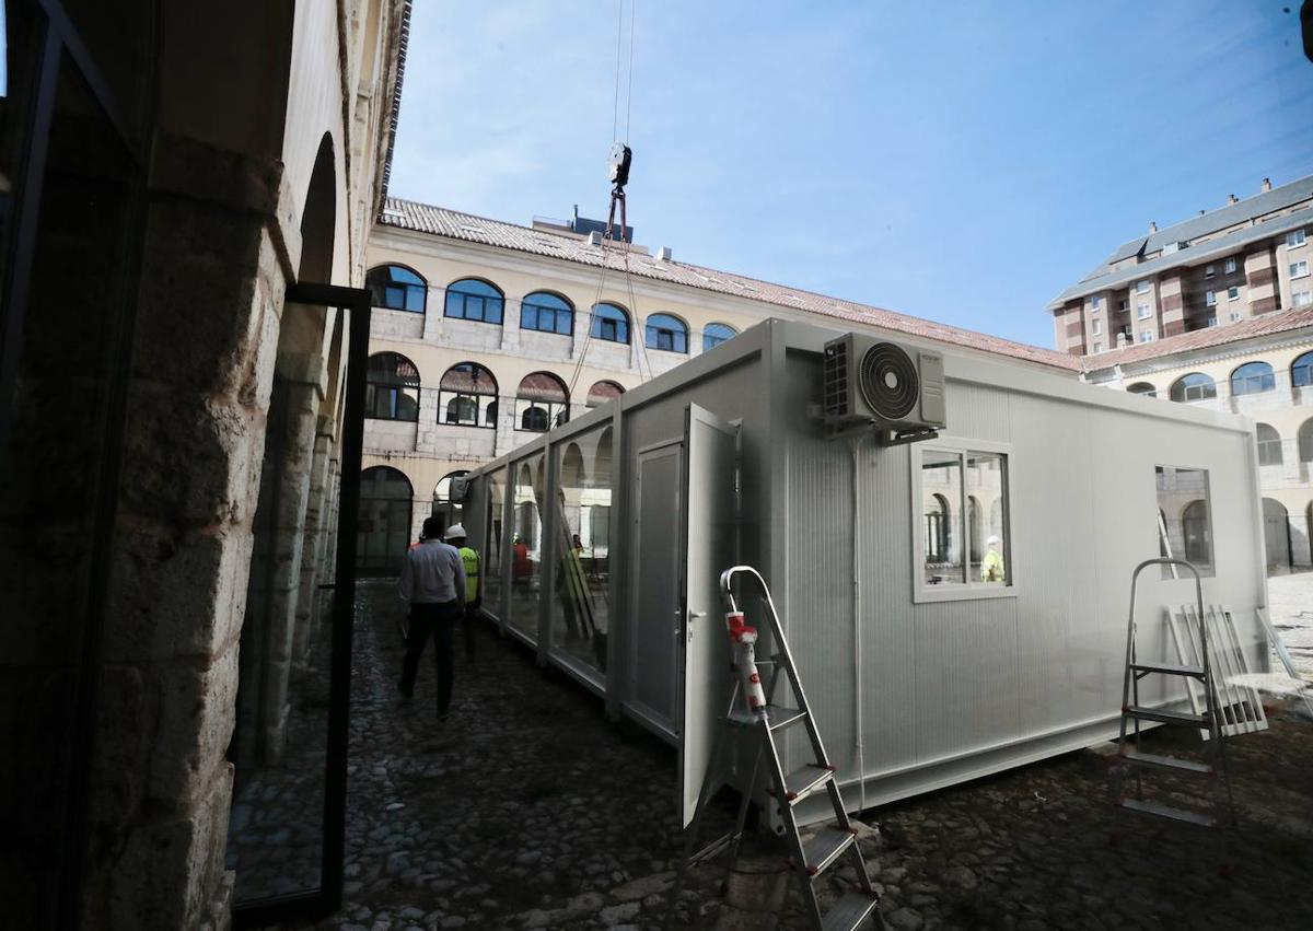
[[[290,268],[281,185],[277,162],[155,141],[84,927],[227,923],[225,751]]]

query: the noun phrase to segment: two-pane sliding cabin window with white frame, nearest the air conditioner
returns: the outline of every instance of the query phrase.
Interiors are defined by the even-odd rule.
[[[1007,446],[913,446],[915,600],[1015,595]]]

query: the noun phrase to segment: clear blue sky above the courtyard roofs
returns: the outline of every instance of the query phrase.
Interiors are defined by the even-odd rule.
[[[616,0],[415,0],[390,193],[604,218],[616,25]],[[639,243],[1039,345],[1149,221],[1313,173],[1297,0],[637,0],[634,34]]]

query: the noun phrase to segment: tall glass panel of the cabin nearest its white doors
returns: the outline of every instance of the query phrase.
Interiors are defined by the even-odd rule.
[[[551,646],[603,675],[611,626],[611,436],[607,425],[557,448],[561,478],[551,521],[557,534]]]

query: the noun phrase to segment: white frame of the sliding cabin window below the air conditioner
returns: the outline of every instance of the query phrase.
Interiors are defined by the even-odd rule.
[[[926,534],[922,521],[923,490],[922,479],[922,453],[926,448],[936,452],[958,453],[961,456],[961,482],[962,496],[957,520],[957,532],[962,541],[962,565],[970,571],[970,538],[966,527],[968,494],[966,494],[966,454],[993,453],[1003,457],[1003,565],[1007,567],[1007,582],[962,582],[949,586],[926,584]],[[907,462],[911,469],[911,600],[914,604],[930,601],[978,601],[990,597],[1016,597],[1020,591],[1016,584],[1016,548],[1012,546],[1015,527],[1012,524],[1012,488],[1016,487],[1016,457],[1012,453],[1011,443],[994,443],[993,440],[968,440],[960,437],[936,436],[926,443],[909,444]]]

